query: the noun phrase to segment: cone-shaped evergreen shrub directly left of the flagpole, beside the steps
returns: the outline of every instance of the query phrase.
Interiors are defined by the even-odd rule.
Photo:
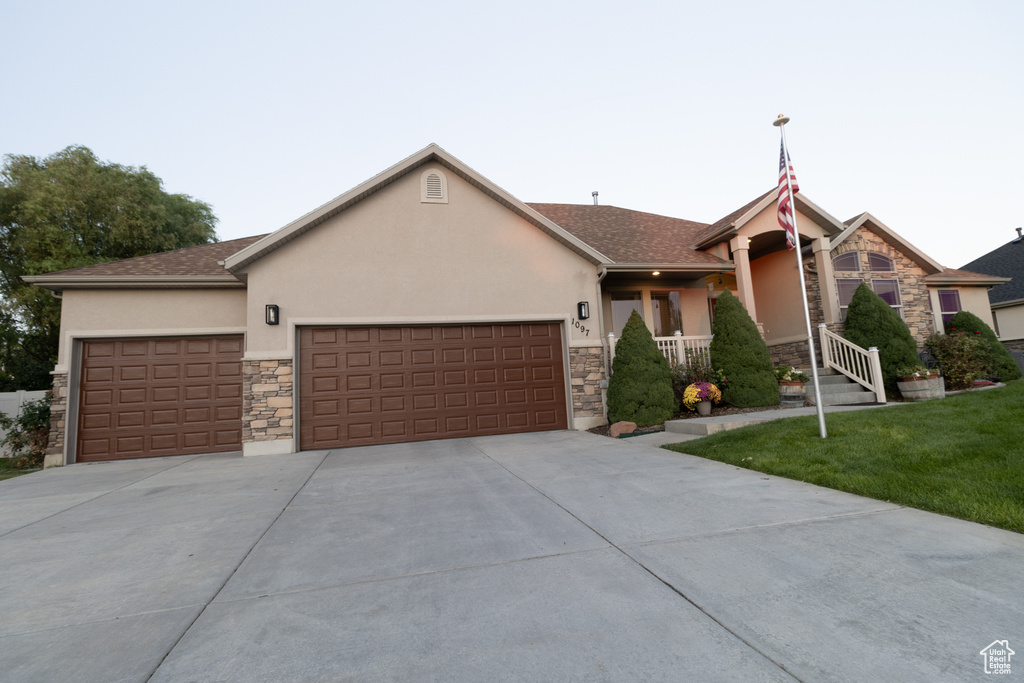
[[[711,362],[729,381],[722,400],[737,408],[778,405],[778,382],[768,346],[739,299],[726,290],[718,297],[712,326]]]

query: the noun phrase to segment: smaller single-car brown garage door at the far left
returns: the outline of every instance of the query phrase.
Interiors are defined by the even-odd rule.
[[[242,449],[241,336],[82,345],[79,462]]]

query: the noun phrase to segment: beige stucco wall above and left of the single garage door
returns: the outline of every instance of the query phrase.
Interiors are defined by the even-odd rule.
[[[73,338],[245,332],[246,292],[67,290],[60,305],[57,368],[67,372]]]

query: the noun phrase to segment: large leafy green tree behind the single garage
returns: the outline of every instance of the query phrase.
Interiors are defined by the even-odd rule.
[[[52,368],[60,328],[59,301],[23,275],[207,244],[216,239],[216,220],[209,205],[164,191],[161,179],[145,167],[101,162],[87,147],[70,146],[45,159],[5,157],[0,168],[0,297],[17,330],[34,340],[22,345],[30,357],[12,362],[38,361],[41,351]],[[7,329],[14,325],[2,324]],[[41,349],[30,348],[33,344]],[[6,365],[3,372],[15,374]]]

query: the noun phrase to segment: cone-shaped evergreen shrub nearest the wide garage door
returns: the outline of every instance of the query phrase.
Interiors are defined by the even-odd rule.
[[[608,381],[608,421],[659,425],[678,413],[669,361],[643,319],[633,311],[615,344]]]

